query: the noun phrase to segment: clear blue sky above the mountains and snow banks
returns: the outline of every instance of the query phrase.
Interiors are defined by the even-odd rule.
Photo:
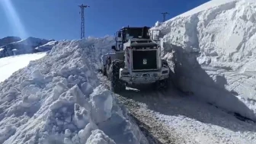
[[[9,2],[7,2],[9,1]],[[85,37],[113,35],[120,27],[149,26],[197,7],[209,0],[0,0],[0,38],[80,38],[80,9],[85,9]],[[17,15],[15,15],[15,13]]]

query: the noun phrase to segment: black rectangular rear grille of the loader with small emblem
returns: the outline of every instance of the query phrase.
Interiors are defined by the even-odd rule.
[[[133,50],[133,70],[157,70],[156,56],[156,50]]]

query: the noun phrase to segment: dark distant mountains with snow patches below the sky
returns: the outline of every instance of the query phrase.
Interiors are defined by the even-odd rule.
[[[0,47],[0,58],[6,57],[6,56],[19,55],[19,54],[26,54],[26,53],[43,52],[38,49],[36,50],[35,48],[37,48],[37,46],[42,46],[50,41],[53,41],[53,40],[45,40],[45,39],[39,39],[35,37],[28,37],[27,39],[24,39],[24,40],[20,40],[14,43],[9,43],[5,46]],[[54,43],[52,43],[51,46],[54,46],[53,44]]]

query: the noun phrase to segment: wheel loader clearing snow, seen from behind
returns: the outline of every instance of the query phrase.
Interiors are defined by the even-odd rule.
[[[160,30],[150,27],[123,27],[115,34],[115,53],[101,57],[102,72],[111,82],[111,90],[120,92],[126,85],[154,84],[158,90],[168,86],[168,63],[161,58]],[[155,34],[154,34],[155,32]],[[158,38],[153,38],[158,37]]]

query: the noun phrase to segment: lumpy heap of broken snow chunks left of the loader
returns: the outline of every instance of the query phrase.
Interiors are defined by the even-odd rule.
[[[0,83],[0,143],[148,143],[91,64],[112,39],[61,41]]]

